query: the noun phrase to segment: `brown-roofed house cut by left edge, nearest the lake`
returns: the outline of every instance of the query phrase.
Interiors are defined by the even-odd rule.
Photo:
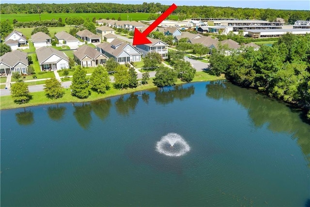
[[[12,72],[27,73],[29,63],[26,52],[15,50],[0,56],[0,75],[12,75]]]

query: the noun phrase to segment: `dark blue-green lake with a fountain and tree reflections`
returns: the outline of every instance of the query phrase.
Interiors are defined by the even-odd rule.
[[[1,206],[305,207],[301,117],[225,81],[1,110]]]

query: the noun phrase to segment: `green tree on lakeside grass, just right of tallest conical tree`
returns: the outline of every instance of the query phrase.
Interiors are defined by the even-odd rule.
[[[97,66],[92,73],[90,86],[98,93],[105,93],[109,90],[110,78],[107,69],[103,66]]]

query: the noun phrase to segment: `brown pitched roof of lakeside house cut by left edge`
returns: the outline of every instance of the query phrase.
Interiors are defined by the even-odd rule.
[[[19,62],[22,62],[23,64],[28,66],[29,64],[27,58],[28,57],[26,52],[16,50],[13,52],[7,52],[4,55],[0,56],[0,62],[12,68],[16,66],[16,64],[18,64]]]

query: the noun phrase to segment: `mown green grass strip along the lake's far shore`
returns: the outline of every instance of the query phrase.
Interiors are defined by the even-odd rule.
[[[222,80],[225,79],[223,77],[216,77],[209,75],[205,72],[196,72],[193,82],[201,82],[201,81],[214,81],[214,80]],[[177,84],[182,84],[184,82],[181,82],[178,80]],[[96,92],[92,92],[92,95],[87,99],[78,99],[77,97],[73,97],[70,94],[70,88],[65,89],[65,94],[61,99],[48,99],[44,91],[40,92],[33,92],[32,100],[27,104],[15,104],[11,98],[11,96],[1,96],[0,97],[0,108],[6,109],[6,108],[18,108],[18,107],[25,107],[25,106],[31,106],[31,105],[41,105],[41,104],[56,104],[56,103],[70,103],[70,102],[89,102],[89,101],[95,101],[99,99],[108,98],[111,96],[117,96],[122,95],[126,93],[132,93],[135,91],[140,90],[146,90],[150,88],[156,88],[153,84],[153,78],[150,78],[147,85],[138,86],[137,88],[128,88],[128,89],[115,89],[113,86],[107,91],[105,94],[98,94]]]

